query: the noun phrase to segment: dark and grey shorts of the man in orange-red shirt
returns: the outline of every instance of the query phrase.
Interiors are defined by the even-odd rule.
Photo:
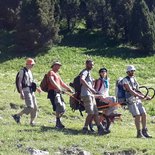
[[[63,113],[66,110],[65,102],[60,93],[55,92],[54,90],[50,90],[47,96],[53,106],[53,111],[58,113]]]

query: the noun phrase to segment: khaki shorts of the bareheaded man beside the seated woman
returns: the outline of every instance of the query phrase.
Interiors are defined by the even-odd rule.
[[[84,103],[87,114],[98,115],[98,109],[96,106],[95,97],[93,96],[81,96]]]

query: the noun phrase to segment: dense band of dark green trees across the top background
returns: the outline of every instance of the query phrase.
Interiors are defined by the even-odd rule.
[[[16,32],[20,51],[60,41],[59,29],[82,28],[150,53],[155,50],[154,10],[153,0],[6,0],[0,1],[0,29]]]

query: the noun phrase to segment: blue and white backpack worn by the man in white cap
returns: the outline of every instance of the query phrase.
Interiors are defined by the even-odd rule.
[[[129,82],[130,78],[128,76],[125,77]],[[117,102],[124,103],[126,102],[126,95],[125,95],[125,89],[123,88],[123,79],[124,78],[119,78],[116,81],[116,99]]]

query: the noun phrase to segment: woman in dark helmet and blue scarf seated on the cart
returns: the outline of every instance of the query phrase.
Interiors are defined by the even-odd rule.
[[[116,102],[116,98],[114,96],[109,96],[109,78],[107,75],[107,69],[101,68],[99,70],[99,79],[97,79],[95,84],[95,90],[99,95],[102,95],[99,98],[96,98],[97,105],[105,105],[105,104],[113,104]],[[116,106],[109,106],[109,108],[106,110],[106,115],[114,117],[117,115],[116,113]]]

